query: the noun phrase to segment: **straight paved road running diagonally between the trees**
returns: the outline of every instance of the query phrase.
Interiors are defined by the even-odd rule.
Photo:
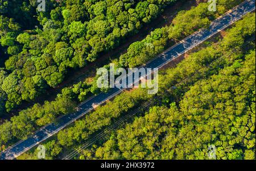
[[[243,2],[240,6],[233,8],[232,11],[226,13],[221,18],[214,20],[210,24],[209,29],[201,29],[201,31],[187,37],[179,44],[176,44],[175,46],[167,49],[163,54],[159,55],[153,61],[147,63],[147,65],[144,67],[160,68],[163,65],[166,65],[172,59],[179,57],[179,55],[187,52],[187,50],[199,45],[201,42],[207,40],[209,37],[215,35],[217,32],[220,32],[222,29],[228,27],[230,24],[241,19],[242,16],[253,10],[255,10],[255,0],[247,0]],[[40,142],[43,142],[50,136],[56,134],[56,132],[63,129],[65,126],[69,125],[76,119],[79,119],[86,113],[93,110],[93,106],[102,104],[103,102],[110,99],[111,97],[116,96],[123,90],[124,89],[112,88],[108,93],[101,93],[100,95],[94,96],[92,99],[83,102],[79,106],[79,108],[81,109],[79,112],[61,117],[60,119],[58,119],[57,123],[51,123],[35,132],[35,134],[32,135],[30,138],[14,144],[14,146],[8,148],[5,152],[1,153],[0,159],[15,159],[15,157],[28,151],[28,149],[36,146]]]

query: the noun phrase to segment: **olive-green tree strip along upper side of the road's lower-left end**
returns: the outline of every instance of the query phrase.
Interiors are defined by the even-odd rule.
[[[16,139],[26,139],[33,131],[51,123],[60,114],[72,113],[74,102],[67,96],[59,96],[55,101],[45,102],[44,105],[35,104],[30,109],[22,110],[18,116],[12,117],[10,122],[0,125],[0,144],[10,143]]]

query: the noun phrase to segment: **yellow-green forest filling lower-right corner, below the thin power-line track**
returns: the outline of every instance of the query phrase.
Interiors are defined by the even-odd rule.
[[[152,107],[80,159],[203,160],[213,147],[218,160],[255,160],[255,50],[243,60],[196,82],[179,103]]]

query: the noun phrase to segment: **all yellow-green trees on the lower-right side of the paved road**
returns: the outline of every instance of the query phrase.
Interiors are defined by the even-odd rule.
[[[161,101],[148,112],[85,149],[79,159],[208,159],[209,146],[216,147],[217,159],[255,159],[254,20],[255,13],[245,16],[217,43],[163,70],[158,95],[141,88],[123,92],[60,131],[44,143],[47,159],[79,147],[156,97]],[[33,149],[21,158],[36,159],[36,154]]]

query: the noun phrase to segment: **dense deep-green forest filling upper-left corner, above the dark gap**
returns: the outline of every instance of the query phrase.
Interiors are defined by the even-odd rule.
[[[52,0],[48,11],[36,15],[42,27],[30,31],[8,17],[13,4],[1,2],[0,42],[10,55],[1,69],[1,104],[9,112],[23,100],[35,100],[63,82],[69,68],[84,67],[114,49],[175,1]],[[36,0],[26,5],[36,7]]]

